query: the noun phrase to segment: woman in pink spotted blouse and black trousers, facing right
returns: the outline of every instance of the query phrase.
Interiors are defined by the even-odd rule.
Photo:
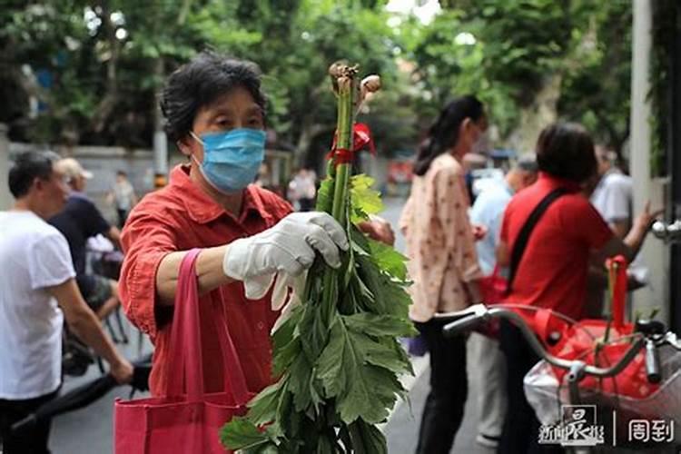
[[[481,277],[470,225],[462,160],[487,129],[482,104],[463,96],[447,104],[430,126],[414,163],[410,198],[400,229],[407,240],[410,317],[430,352],[430,392],[417,452],[447,454],[463,418],[467,396],[466,342],[445,339],[436,312],[459,311],[479,301]]]

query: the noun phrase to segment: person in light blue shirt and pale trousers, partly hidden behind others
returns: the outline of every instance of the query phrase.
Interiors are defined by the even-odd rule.
[[[476,242],[480,269],[485,275],[494,271],[497,259],[495,250],[504,210],[513,195],[537,181],[538,167],[534,154],[521,156],[506,174],[504,180],[489,185],[480,192],[470,210],[470,222],[487,227],[488,233]],[[485,301],[496,303],[499,301]],[[482,384],[479,393],[480,420],[476,441],[483,446],[496,448],[506,415],[506,361],[499,350],[498,341],[471,333],[468,344],[469,370]]]

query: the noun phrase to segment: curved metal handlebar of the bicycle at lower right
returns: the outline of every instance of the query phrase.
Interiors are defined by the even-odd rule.
[[[525,320],[523,320],[523,318],[515,311],[510,311],[508,309],[500,307],[487,308],[484,304],[475,304],[474,306],[469,307],[469,309],[467,309],[466,311],[439,314],[439,319],[454,320],[445,325],[444,328],[442,328],[442,331],[446,337],[455,336],[464,331],[468,331],[471,327],[474,327],[478,323],[489,321],[492,318],[506,319],[508,321],[512,321],[518,327],[520,332],[523,333],[523,336],[528,341],[530,347],[532,348],[532,350],[535,350],[539,358],[547,360],[549,364],[556,366],[560,369],[574,370],[576,361],[564,360],[562,358],[558,358],[550,354],[538,340],[535,333],[529,329],[528,324],[525,322]],[[614,377],[619,372],[624,370],[627,367],[627,365],[631,362],[631,360],[633,360],[636,357],[638,351],[643,348],[646,341],[648,341],[646,340],[646,338],[643,337],[637,338],[637,340],[632,343],[631,347],[629,347],[624,356],[620,360],[618,360],[617,363],[610,367],[601,368],[597,366],[592,366],[590,364],[584,364],[583,367],[580,368],[580,370],[587,375],[592,375],[598,378]],[[654,341],[651,342],[652,353],[650,354],[650,358],[648,358],[648,354],[646,354],[646,371],[648,371],[648,373],[650,374],[648,380],[650,380],[652,376],[652,378],[656,379],[658,382],[661,379],[659,373],[659,360],[656,360],[657,354],[655,350],[656,348],[655,342]],[[648,351],[647,349],[648,347],[646,344],[646,352]],[[649,364],[648,360],[650,360]],[[651,382],[656,381],[651,380]]]

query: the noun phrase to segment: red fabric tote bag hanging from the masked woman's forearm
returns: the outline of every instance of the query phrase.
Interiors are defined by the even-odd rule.
[[[168,369],[168,394],[158,398],[116,400],[116,454],[232,452],[220,444],[219,430],[232,416],[245,414],[252,394],[246,387],[222,311],[214,311],[212,320],[222,327],[216,331],[220,337],[226,391],[210,394],[203,391],[199,296],[194,266],[199,251],[188,252],[180,266],[169,355],[177,362]]]

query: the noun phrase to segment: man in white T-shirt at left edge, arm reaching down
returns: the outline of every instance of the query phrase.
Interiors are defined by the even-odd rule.
[[[69,327],[111,366],[119,383],[133,367],[104,334],[75,283],[64,236],[45,222],[66,202],[59,156],[30,152],[9,172],[11,210],[0,212],[0,452],[49,452],[50,423],[22,434],[11,426],[56,397],[62,381],[62,328]]]

